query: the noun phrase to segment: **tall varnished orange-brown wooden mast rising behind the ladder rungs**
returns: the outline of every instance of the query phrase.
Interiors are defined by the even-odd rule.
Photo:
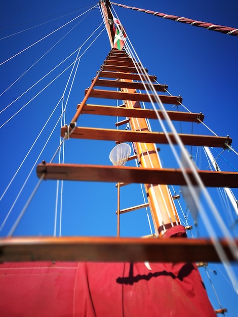
[[[102,11],[104,15],[104,20],[107,21],[108,17],[111,14],[109,1],[106,0],[101,1]],[[106,10],[105,10],[106,9]],[[113,33],[111,33],[111,25],[109,23],[105,23],[108,29],[108,34],[110,43],[112,43],[111,39],[113,37]],[[126,58],[127,54],[124,51],[114,52],[114,60],[118,60],[118,58]],[[113,56],[111,57],[111,61],[113,61]],[[124,63],[125,63],[124,59]],[[128,62],[131,59],[128,58]],[[126,63],[125,63],[126,64]],[[132,66],[134,66],[132,64]],[[120,78],[119,81],[133,83],[133,80]],[[128,94],[135,94],[136,91],[130,88],[121,88],[121,92]],[[141,108],[139,101],[133,100],[125,100],[126,108],[130,109],[139,109]],[[130,117],[129,121],[130,127],[132,131],[143,131],[149,132],[149,127],[145,118],[137,118]],[[161,161],[158,156],[156,146],[153,143],[140,143],[135,142],[136,153],[138,156],[138,162],[142,168],[155,168],[161,169]],[[167,229],[170,229],[174,226],[179,225],[177,227],[177,233],[181,232],[181,234],[185,234],[185,229],[182,228],[179,222],[179,217],[171,197],[169,188],[167,185],[154,185],[154,184],[145,184],[145,190],[148,197],[148,202],[150,206],[151,216],[153,219],[153,225],[156,235],[163,235]],[[175,234],[175,230],[174,230]]]

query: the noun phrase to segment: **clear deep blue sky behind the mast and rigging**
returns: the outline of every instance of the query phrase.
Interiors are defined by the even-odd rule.
[[[10,0],[3,2],[0,12],[0,38],[8,37],[1,39],[0,63],[24,50],[56,28],[70,21],[73,17],[83,13],[87,8],[96,4],[97,1],[93,0],[88,2],[73,0],[60,0],[57,2],[45,0],[41,2],[27,0],[18,2]],[[235,0],[201,0],[193,2],[188,0],[171,0],[166,2],[125,0],[122,4],[238,28],[238,2]],[[143,65],[148,68],[149,73],[155,74],[158,82],[166,83],[173,95],[181,95],[184,105],[190,111],[202,111],[205,114],[206,125],[218,135],[229,135],[233,139],[232,146],[237,151],[236,91],[238,84],[238,38],[116,6],[114,9],[120,17]],[[65,17],[62,17],[63,15]],[[58,17],[62,18],[56,19]],[[82,18],[77,19],[75,22],[47,37],[44,41],[41,41],[0,66],[2,78],[0,93],[9,87]],[[54,21],[45,23],[53,19]],[[95,9],[65,36],[50,53],[32,67],[21,80],[0,97],[1,109],[9,105],[26,89],[38,81],[39,78],[80,47],[100,23],[101,16],[99,10]],[[38,24],[42,25],[31,28]],[[27,28],[31,29],[17,35],[9,36]],[[86,47],[87,45],[82,48],[82,52]],[[87,54],[83,55],[75,78],[73,92],[69,98],[66,123],[70,122],[75,112],[76,104],[80,103],[83,99],[85,89],[90,86],[91,79],[100,68],[109,50],[109,42],[104,31],[95,44],[89,48]],[[72,62],[73,58],[70,61]],[[66,62],[60,69],[63,70],[66,65],[69,65],[69,62]],[[57,74],[59,74],[58,70],[1,113],[0,125],[43,89]],[[51,85],[44,93],[28,104],[9,124],[0,129],[2,144],[0,194],[2,194],[13,177],[52,109],[62,97],[68,76],[69,71],[65,72],[54,85]],[[172,107],[170,106],[168,109],[171,110]],[[0,202],[1,223],[10,210],[26,175],[28,175],[32,162],[34,162],[39,153],[39,148],[44,145],[54,126],[60,110],[59,107],[51,120],[49,128],[46,129],[37,142],[32,154],[27,158],[19,175],[16,177],[4,199]],[[182,109],[180,108],[180,110]],[[90,116],[85,116],[85,119],[83,119],[84,117],[79,120],[78,125],[95,127],[104,127],[106,125],[107,128],[113,128],[115,123],[115,118],[113,117],[100,118],[97,121]],[[156,130],[156,124],[154,125]],[[186,126],[184,129],[187,130],[183,130],[183,132],[191,132],[191,126]],[[200,129],[202,132],[200,132]],[[59,144],[59,132],[60,125],[57,126],[52,140],[39,159],[39,162],[42,160],[49,162],[51,160]],[[197,134],[208,133],[201,125],[194,125],[193,132]],[[114,145],[114,142],[102,144],[101,142],[69,140],[66,142],[65,162],[110,164],[108,158],[109,152]],[[237,157],[232,155],[232,153],[226,153],[226,159],[237,170]],[[163,154],[163,151],[162,160],[166,164],[167,162],[170,164],[168,156]],[[231,167],[227,169],[232,170]],[[8,233],[14,223],[14,219],[19,215],[36,182],[37,178],[34,171],[0,235],[4,236]],[[55,182],[44,182],[16,230],[17,235],[53,234],[55,188]],[[99,183],[65,183],[62,234],[115,235],[116,194],[114,184],[105,184],[105,186],[102,186]],[[128,201],[128,196],[130,196],[130,202]],[[141,203],[143,203],[143,199],[138,186],[132,185],[131,188],[122,188],[122,208]],[[219,201],[218,205],[220,205]],[[145,211],[141,210],[136,213],[136,217],[133,213],[122,217],[122,235],[127,236],[131,234],[139,236],[149,234]],[[229,216],[225,215],[224,217]],[[227,286],[227,289],[222,287],[227,284],[223,284],[224,280],[221,279],[222,273],[216,268],[216,265],[211,265],[211,268],[218,272],[218,275],[212,277],[213,280],[218,281],[214,283],[217,283],[221,302],[222,298],[225,298],[222,305],[229,310],[227,316],[235,316],[237,314],[235,311],[238,310],[236,305],[237,296],[235,297],[230,286]],[[208,283],[206,286],[210,290]],[[214,296],[212,297],[212,301],[218,307]]]

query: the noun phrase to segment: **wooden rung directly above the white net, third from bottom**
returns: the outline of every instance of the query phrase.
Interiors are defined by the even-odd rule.
[[[61,136],[67,133],[67,127],[61,128]],[[168,133],[173,143],[176,143],[173,133]],[[217,137],[195,134],[178,134],[185,145],[223,147],[231,144],[229,137]],[[168,144],[168,139],[163,132],[128,131],[115,129],[81,128],[76,127],[70,138],[104,140],[117,142],[148,142]]]

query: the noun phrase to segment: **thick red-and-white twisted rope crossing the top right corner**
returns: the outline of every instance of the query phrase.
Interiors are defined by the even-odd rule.
[[[160,17],[163,19],[169,19],[169,20],[173,20],[173,21],[177,21],[177,22],[182,22],[185,24],[190,24],[193,26],[203,27],[203,28],[206,28],[207,30],[211,30],[211,31],[216,31],[216,32],[220,32],[220,33],[224,33],[224,34],[228,34],[228,35],[238,36],[238,29],[235,29],[233,27],[222,26],[222,25],[217,25],[217,24],[212,24],[212,23],[202,22],[202,21],[196,21],[196,20],[192,20],[192,19],[188,19],[188,18],[184,18],[184,17],[178,17],[176,15],[140,9],[140,8],[136,8],[136,7],[129,7],[129,6],[125,6],[125,5],[116,4],[114,2],[111,2],[111,4],[118,6],[118,7],[126,8],[126,9],[132,9],[132,10],[152,14],[156,17]]]

